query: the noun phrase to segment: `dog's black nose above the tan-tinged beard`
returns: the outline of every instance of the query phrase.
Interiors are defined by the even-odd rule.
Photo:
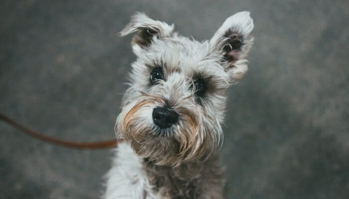
[[[169,108],[153,109],[153,121],[160,128],[169,128],[178,120],[178,114]]]

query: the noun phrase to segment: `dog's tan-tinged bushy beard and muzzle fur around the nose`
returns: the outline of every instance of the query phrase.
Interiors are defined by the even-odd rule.
[[[116,122],[119,138],[125,138],[138,155],[157,165],[179,166],[185,161],[208,158],[219,144],[215,122],[203,125],[202,110],[187,105],[174,107],[178,121],[161,129],[153,123],[152,112],[154,107],[164,105],[164,100],[152,96],[142,96],[126,105]]]

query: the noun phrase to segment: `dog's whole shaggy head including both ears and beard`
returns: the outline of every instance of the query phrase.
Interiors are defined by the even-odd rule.
[[[253,20],[236,13],[209,41],[174,32],[174,26],[137,13],[120,32],[132,41],[137,61],[116,133],[138,155],[157,165],[204,159],[223,140],[225,90],[247,71]]]

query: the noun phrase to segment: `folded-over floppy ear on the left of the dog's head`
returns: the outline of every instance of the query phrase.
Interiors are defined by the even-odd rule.
[[[137,12],[131,17],[131,21],[120,31],[119,36],[125,36],[138,31],[132,39],[133,47],[147,48],[155,38],[171,37],[174,25],[149,18],[145,13]],[[135,46],[136,45],[136,46]]]

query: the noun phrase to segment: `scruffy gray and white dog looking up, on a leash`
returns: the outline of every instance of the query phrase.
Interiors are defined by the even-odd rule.
[[[198,42],[174,25],[136,13],[120,32],[133,32],[130,88],[115,132],[119,144],[104,199],[221,199],[217,149],[226,90],[247,71],[253,43],[249,12],[228,17]]]

